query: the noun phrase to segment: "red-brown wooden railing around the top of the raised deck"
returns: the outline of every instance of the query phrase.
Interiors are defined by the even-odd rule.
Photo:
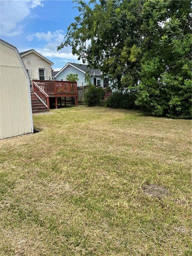
[[[77,94],[77,82],[33,80],[47,94]]]

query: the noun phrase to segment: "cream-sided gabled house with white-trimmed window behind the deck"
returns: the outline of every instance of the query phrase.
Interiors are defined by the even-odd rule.
[[[25,64],[30,80],[52,80],[51,66],[52,61],[34,49],[20,52],[20,56]]]

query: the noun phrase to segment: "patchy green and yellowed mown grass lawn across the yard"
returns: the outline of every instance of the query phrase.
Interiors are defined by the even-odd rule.
[[[84,106],[33,119],[41,132],[0,141],[0,255],[191,255],[190,120]]]

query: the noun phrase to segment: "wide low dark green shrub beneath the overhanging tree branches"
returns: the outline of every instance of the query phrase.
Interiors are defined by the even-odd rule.
[[[106,100],[106,107],[110,108],[135,108],[135,92],[129,91],[126,93],[114,92]]]

